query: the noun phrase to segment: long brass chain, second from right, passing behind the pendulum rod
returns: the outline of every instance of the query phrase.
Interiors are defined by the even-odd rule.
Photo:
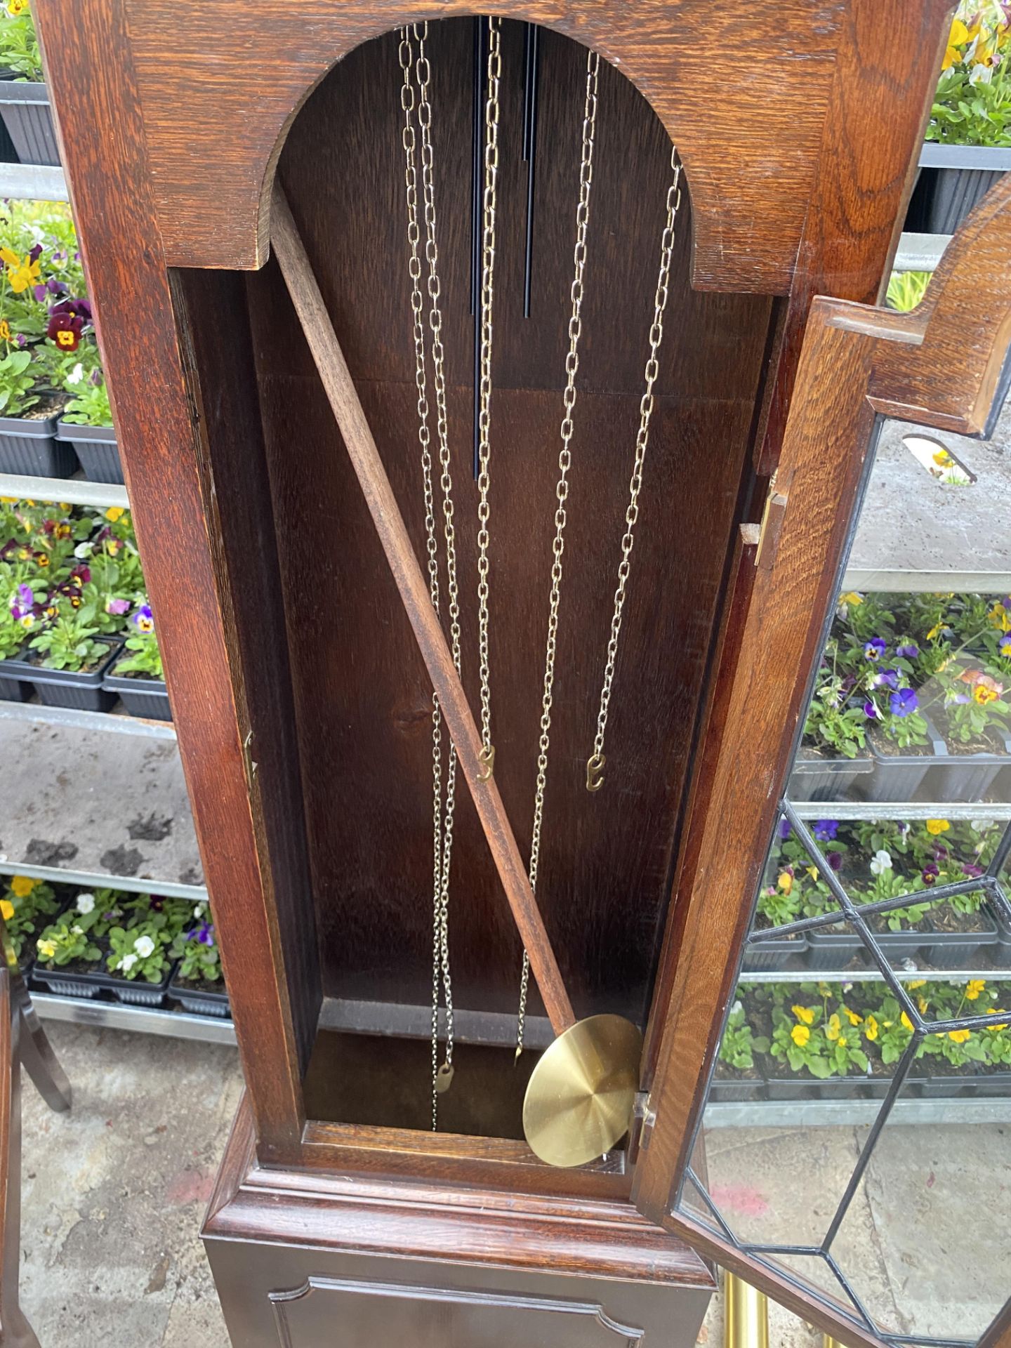
[[[534,829],[530,840],[530,888],[537,891],[537,872],[541,860],[541,826],[545,817],[545,787],[547,785],[547,749],[551,739],[551,702],[554,697],[554,662],[558,639],[558,609],[562,597],[562,553],[565,551],[565,503],[569,497],[569,469],[572,466],[573,408],[576,407],[576,372],[580,368],[580,337],[582,334],[582,274],[586,267],[586,232],[589,228],[589,198],[593,185],[593,142],[597,125],[597,80],[600,57],[586,53],[586,98],[582,111],[582,155],[580,160],[580,204],[576,208],[576,247],[573,249],[572,311],[569,314],[569,350],[565,357],[565,415],[562,417],[562,448],[558,454],[558,506],[554,514],[554,542],[551,551],[551,590],[547,605],[547,646],[545,650],[545,685],[541,704],[541,741],[537,759],[537,786],[534,789]],[[523,1051],[523,1031],[527,1016],[530,987],[530,957],[523,952],[519,983],[519,1016],[516,1019],[516,1057]]]

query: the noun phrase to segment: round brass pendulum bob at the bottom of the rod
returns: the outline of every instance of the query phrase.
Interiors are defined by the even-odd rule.
[[[523,1134],[549,1166],[582,1166],[628,1132],[643,1037],[620,1015],[593,1015],[563,1030],[534,1068]]]

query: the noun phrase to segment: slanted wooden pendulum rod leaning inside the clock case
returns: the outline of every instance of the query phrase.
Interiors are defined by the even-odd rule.
[[[394,573],[400,600],[438,693],[442,714],[456,745],[460,767],[477,809],[512,917],[530,956],[530,967],[555,1034],[576,1023],[558,961],[545,930],[543,918],[530,887],[523,859],[512,833],[495,778],[483,779],[481,737],[477,732],[464,685],[453,665],[449,643],[431,605],[429,586],[411,547],[394,489],[379,457],[372,431],[344,359],[330,315],[319,294],[313,267],[291,216],[280,183],[275,183],[271,241],[284,283],[313,353],[326,398],[337,418],[345,449],[352,461],[365,503]]]

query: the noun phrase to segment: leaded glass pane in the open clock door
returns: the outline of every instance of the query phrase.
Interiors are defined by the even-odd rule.
[[[880,427],[702,1120],[709,1227],[896,1344],[1011,1291],[1010,441]]]

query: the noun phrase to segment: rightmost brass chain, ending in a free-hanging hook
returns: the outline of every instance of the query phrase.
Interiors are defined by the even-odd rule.
[[[631,554],[635,543],[635,526],[639,519],[639,492],[643,485],[643,464],[646,450],[650,443],[650,419],[652,418],[654,395],[652,386],[659,373],[658,355],[663,341],[663,313],[667,307],[667,290],[670,284],[670,263],[674,252],[674,224],[678,208],[681,206],[681,160],[677,146],[671,147],[670,166],[674,177],[667,189],[667,221],[661,237],[661,267],[656,280],[656,295],[654,298],[652,326],[650,328],[650,356],[646,361],[646,390],[639,403],[639,431],[635,437],[635,462],[632,479],[628,484],[628,510],[625,511],[625,531],[621,538],[621,561],[617,566],[617,589],[615,590],[615,611],[611,617],[611,635],[608,638],[607,661],[604,663],[604,681],[600,689],[600,710],[597,713],[597,733],[593,740],[593,754],[586,762],[586,790],[599,791],[604,785],[604,733],[608,724],[608,709],[611,706],[611,690],[615,682],[615,663],[617,661],[617,642],[621,632],[621,613],[625,603],[625,586],[628,573],[632,569]]]

